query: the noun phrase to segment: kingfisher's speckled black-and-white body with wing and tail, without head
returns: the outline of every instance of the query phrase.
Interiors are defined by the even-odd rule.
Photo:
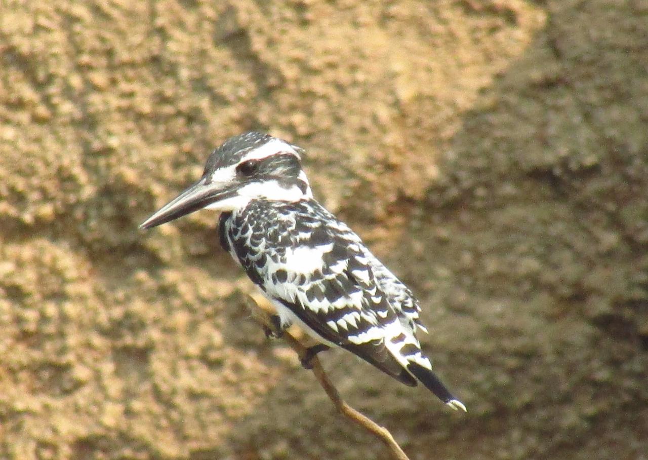
[[[220,235],[283,324],[296,321],[319,341],[455,401],[421,352],[411,291],[317,202],[255,200],[224,215]]]

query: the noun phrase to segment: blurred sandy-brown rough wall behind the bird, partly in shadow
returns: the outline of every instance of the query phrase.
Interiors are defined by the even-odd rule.
[[[645,459],[648,1],[0,3],[0,458],[386,459],[242,308],[251,128],[421,298],[453,413],[323,364],[412,459]]]

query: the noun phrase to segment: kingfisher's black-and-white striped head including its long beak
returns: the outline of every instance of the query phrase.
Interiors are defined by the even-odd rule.
[[[207,158],[200,180],[140,228],[152,228],[203,208],[235,211],[255,199],[308,199],[312,193],[301,169],[300,152],[295,145],[259,132],[229,138]]]

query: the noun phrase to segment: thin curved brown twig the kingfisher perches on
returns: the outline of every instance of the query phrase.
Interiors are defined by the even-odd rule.
[[[272,320],[270,319],[270,314],[266,310],[261,308],[259,304],[257,304],[257,302],[249,295],[246,296],[246,306],[251,312],[252,319],[258,322],[260,326],[264,328],[264,330],[270,329],[277,333],[279,332],[275,330],[275,324],[273,324]],[[290,345],[290,348],[297,352],[297,355],[300,358],[305,356],[307,347],[300,341],[295,339],[295,337],[290,335],[290,333],[283,332],[281,338],[284,339],[284,341],[286,341],[288,345]],[[405,452],[403,452],[398,442],[395,441],[394,437],[391,435],[387,428],[378,425],[376,422],[371,420],[371,418],[366,417],[362,413],[358,412],[341,398],[338,389],[336,389],[332,381],[330,381],[329,376],[327,376],[321,363],[319,363],[317,356],[313,356],[312,359],[310,359],[310,363],[312,364],[312,371],[319,381],[319,384],[323,387],[327,396],[329,396],[329,399],[333,403],[333,406],[338,409],[338,412],[340,412],[343,417],[348,418],[349,420],[351,420],[351,422],[364,428],[364,430],[369,431],[369,433],[378,438],[380,442],[382,442],[389,448],[389,452],[391,452],[391,455],[395,460],[410,460],[410,458],[405,454]]]

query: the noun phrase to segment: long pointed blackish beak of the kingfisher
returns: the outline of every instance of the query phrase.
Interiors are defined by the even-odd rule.
[[[146,219],[139,228],[153,228],[198,211],[209,204],[233,197],[237,193],[237,188],[238,184],[231,183],[210,182],[205,184],[205,178],[201,178],[196,184],[180,193],[178,197],[162,206],[159,211]]]

